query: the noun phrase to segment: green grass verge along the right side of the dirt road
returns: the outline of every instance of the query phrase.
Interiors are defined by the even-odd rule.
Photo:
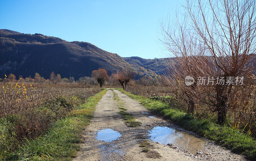
[[[152,100],[144,96],[136,96],[121,88],[117,89],[127,96],[138,100],[150,111],[172,120],[181,127],[211,139],[216,143],[231,149],[233,152],[244,154],[250,159],[256,159],[256,141],[255,138],[250,137],[248,134],[243,134],[241,131],[229,128],[225,125],[220,126],[209,119],[197,119],[185,112],[169,107],[164,102]]]

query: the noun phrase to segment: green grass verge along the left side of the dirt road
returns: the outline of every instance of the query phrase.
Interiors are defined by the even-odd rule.
[[[95,105],[107,92],[106,89],[89,97],[79,109],[72,111],[66,118],[56,121],[43,135],[34,140],[25,140],[20,147],[8,154],[1,154],[0,160],[72,160],[80,150],[80,132],[93,117]]]

